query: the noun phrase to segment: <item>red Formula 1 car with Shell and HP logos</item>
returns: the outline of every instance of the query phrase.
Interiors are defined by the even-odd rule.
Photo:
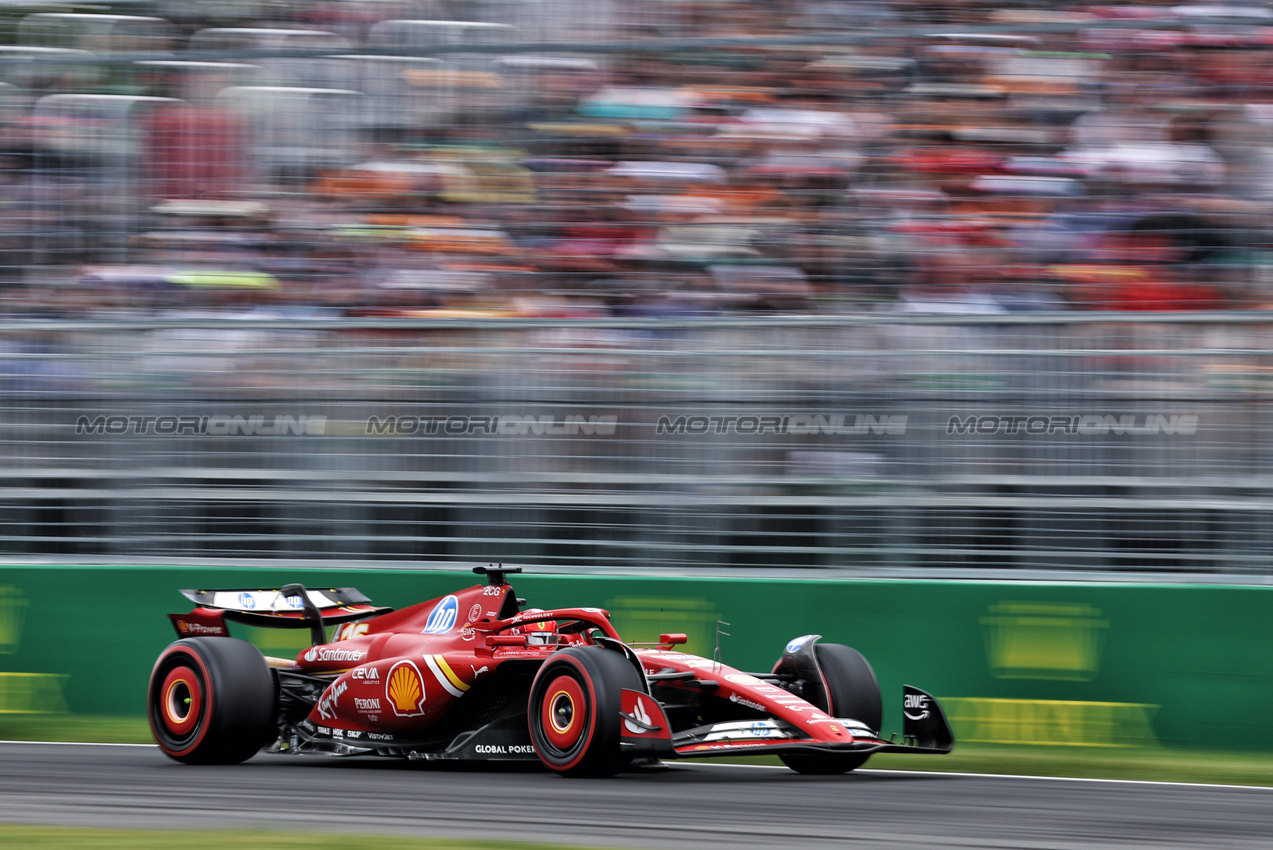
[[[181,640],[150,674],[150,728],[190,763],[257,751],[418,760],[540,761],[566,776],[634,762],[775,753],[803,774],[841,774],[875,752],[943,753],[941,706],[903,686],[901,741],[881,737],[880,686],[853,649],[806,635],[771,672],[745,673],[620,640],[600,608],[522,611],[505,575],[392,611],[351,588],[183,590]],[[264,658],[228,622],[306,629],[295,659]],[[326,626],[334,626],[327,640]]]

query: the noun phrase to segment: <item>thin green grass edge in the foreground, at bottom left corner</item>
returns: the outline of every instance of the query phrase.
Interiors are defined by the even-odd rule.
[[[190,832],[150,830],[80,830],[0,825],[0,844],[24,849],[172,850],[192,844]],[[200,844],[195,841],[195,844]],[[220,832],[209,845],[242,850],[507,850],[499,841],[393,839],[311,832]],[[561,850],[563,845],[517,842],[518,850]]]

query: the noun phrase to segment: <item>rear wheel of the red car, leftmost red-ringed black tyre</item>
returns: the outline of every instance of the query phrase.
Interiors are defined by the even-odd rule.
[[[236,765],[274,730],[274,677],[246,640],[186,638],[155,662],[148,714],[155,743],[171,758]]]

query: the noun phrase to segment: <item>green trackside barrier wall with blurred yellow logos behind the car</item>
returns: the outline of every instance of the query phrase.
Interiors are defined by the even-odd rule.
[[[629,640],[685,631],[769,669],[803,634],[859,649],[900,730],[900,688],[946,705],[962,741],[1273,749],[1273,588],[1097,583],[782,582],[514,576],[535,607],[601,606]],[[176,635],[178,588],[356,587],[402,607],[477,583],[461,573],[187,568],[0,569],[0,713],[141,715]],[[304,631],[232,627],[269,654]]]

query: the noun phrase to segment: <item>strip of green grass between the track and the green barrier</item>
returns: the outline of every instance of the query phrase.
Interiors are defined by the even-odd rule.
[[[151,743],[150,729],[143,718],[81,715],[0,714],[0,739]],[[774,756],[713,761],[782,763]],[[955,752],[947,756],[882,753],[872,757],[868,766],[885,770],[1273,785],[1273,752],[1248,753],[1167,747],[959,744]]]

